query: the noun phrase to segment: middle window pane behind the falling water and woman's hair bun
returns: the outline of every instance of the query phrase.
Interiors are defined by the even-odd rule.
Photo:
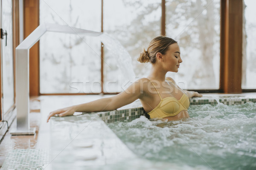
[[[113,5],[114,4],[114,5]],[[122,60],[113,59],[113,54],[104,48],[104,87],[106,92],[120,92],[128,85],[129,77],[122,73],[132,72],[141,78],[148,75],[151,64],[137,61],[143,47],[147,48],[153,37],[160,35],[161,0],[105,0],[104,1],[104,32],[108,33],[128,51],[132,66],[123,65],[129,69],[120,68]],[[113,47],[117,52],[118,46]],[[122,52],[122,51],[121,51]],[[123,57],[123,56],[118,56]],[[121,60],[121,61],[119,61]],[[128,63],[128,62],[127,62]]]

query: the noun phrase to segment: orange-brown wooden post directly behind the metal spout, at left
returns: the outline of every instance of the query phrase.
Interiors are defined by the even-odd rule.
[[[39,26],[39,0],[24,0],[24,39]],[[29,96],[39,95],[39,42],[29,50]]]

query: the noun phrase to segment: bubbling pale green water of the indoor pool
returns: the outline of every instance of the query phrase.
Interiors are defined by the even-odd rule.
[[[191,105],[190,118],[108,126],[138,156],[202,169],[256,169],[256,103]]]

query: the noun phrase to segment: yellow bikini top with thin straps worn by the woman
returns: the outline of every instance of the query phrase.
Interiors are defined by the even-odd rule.
[[[169,80],[169,81],[171,81],[171,80]],[[155,85],[154,85],[154,88],[157,91],[157,88]],[[157,105],[157,107],[155,107],[152,111],[150,111],[148,113],[148,115],[150,116],[151,119],[175,116],[178,113],[180,113],[180,111],[184,111],[184,110],[188,111],[190,102],[189,102],[189,97],[186,94],[183,94],[181,96],[181,98],[179,100],[177,100],[175,97],[166,97],[166,98],[162,99],[162,97],[158,91],[157,91],[157,93],[158,93],[161,101]]]

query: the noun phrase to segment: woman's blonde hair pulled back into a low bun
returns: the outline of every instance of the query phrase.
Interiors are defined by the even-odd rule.
[[[155,37],[148,45],[147,51],[143,48],[143,52],[140,53],[139,58],[137,59],[139,62],[156,62],[157,53],[166,54],[166,51],[169,48],[169,45],[177,43],[177,41],[173,40],[169,37]]]

